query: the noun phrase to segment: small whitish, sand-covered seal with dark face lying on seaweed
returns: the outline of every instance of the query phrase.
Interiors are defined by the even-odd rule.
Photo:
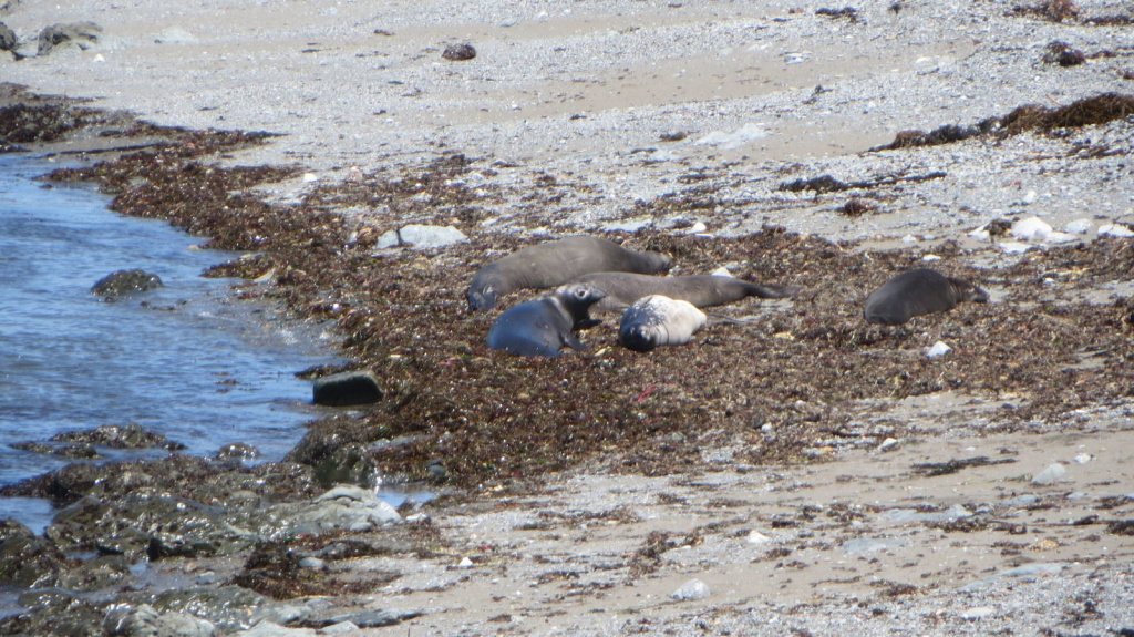
[[[706,320],[705,313],[687,300],[650,295],[623,313],[618,340],[634,351],[650,351],[659,345],[685,345]]]

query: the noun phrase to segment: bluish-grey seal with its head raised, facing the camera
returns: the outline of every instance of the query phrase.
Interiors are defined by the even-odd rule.
[[[497,316],[489,330],[489,347],[519,356],[559,356],[564,346],[583,350],[574,330],[596,323],[587,312],[603,297],[583,283],[561,286],[549,296],[514,305]]]

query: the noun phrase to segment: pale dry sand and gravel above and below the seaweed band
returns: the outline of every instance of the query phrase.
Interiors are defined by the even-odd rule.
[[[93,20],[103,44],[0,68],[35,92],[158,124],[282,134],[227,161],[299,163],[322,182],[441,153],[500,162],[491,186],[503,196],[481,232],[665,227],[675,220],[637,218],[635,202],[711,192],[703,215],[680,221],[718,236],[772,222],[866,246],[954,238],[979,248],[975,262],[998,265],[1015,257],[966,238],[992,219],[1034,214],[1057,229],[1085,219],[1090,232],[1134,221],[1128,118],[1061,138],[863,154],[905,129],[1134,93],[1124,79],[1134,27],[1013,16],[1006,1],[897,6],[869,2],[852,22],[780,0],[24,0],[0,16],[22,39]],[[1078,67],[1043,62],[1055,40],[1106,54]],[[458,42],[477,57],[443,60]],[[902,182],[879,196],[879,214],[855,219],[838,213],[837,195],[777,190],[820,175],[934,171],[950,178]],[[558,207],[525,205],[544,175],[562,185]],[[265,196],[307,187],[296,180]],[[367,211],[352,212],[365,222]],[[746,466],[726,445],[705,450],[694,475],[582,467],[535,496],[485,493],[430,512],[457,547],[451,557],[357,560],[359,572],[407,575],[337,604],[426,611],[375,635],[1134,630],[1134,540],[1108,532],[1134,510],[1132,406],[1068,414],[1067,431],[1048,423],[1002,435],[988,433],[999,401],[939,393],[848,405],[871,435],[832,435],[829,460],[815,466]],[[920,435],[883,450],[877,433],[892,422]],[[941,476],[914,468],[978,457],[990,464]],[[1057,462],[1066,475],[1033,484]],[[706,597],[670,597],[694,578]]]

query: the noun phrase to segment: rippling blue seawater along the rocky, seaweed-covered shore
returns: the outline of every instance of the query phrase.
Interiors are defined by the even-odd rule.
[[[184,453],[239,442],[261,452],[257,461],[280,459],[319,416],[295,372],[335,353],[232,300],[231,281],[201,277],[234,254],[110,212],[92,188],[32,180],[54,167],[0,155],[0,484],[74,461],[12,443],[102,425],[137,423]],[[135,267],[164,287],[112,303],[91,294],[102,277]],[[34,530],[51,516],[46,502],[0,498],[0,517]]]

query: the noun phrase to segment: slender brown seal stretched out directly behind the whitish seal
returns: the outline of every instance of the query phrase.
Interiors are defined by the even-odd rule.
[[[607,292],[603,309],[620,308],[650,295],[687,300],[696,307],[723,305],[747,298],[788,298],[799,292],[799,286],[759,286],[714,274],[689,277],[651,277],[631,272],[596,272],[572,279],[573,283],[587,283]]]

